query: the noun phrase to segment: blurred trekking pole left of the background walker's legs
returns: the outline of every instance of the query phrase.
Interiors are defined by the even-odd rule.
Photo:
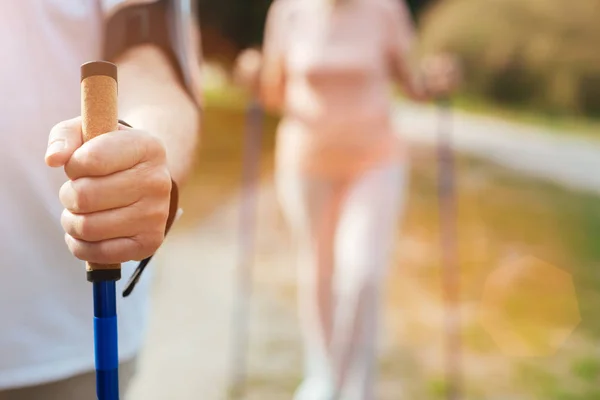
[[[246,384],[262,131],[263,110],[260,103],[253,99],[247,109],[242,161],[239,260],[232,324],[233,351],[230,387],[234,398],[243,393]]]

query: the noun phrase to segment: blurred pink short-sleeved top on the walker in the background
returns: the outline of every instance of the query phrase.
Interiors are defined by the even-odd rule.
[[[391,120],[392,80],[414,29],[400,0],[276,0],[266,68],[284,76],[280,168],[352,174],[402,158]]]

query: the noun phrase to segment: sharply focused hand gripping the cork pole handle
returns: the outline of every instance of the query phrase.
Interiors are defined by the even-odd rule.
[[[83,143],[81,118],[50,132],[46,164],[64,167],[61,222],[73,255],[101,264],[142,260],[162,244],[171,175],[163,144],[119,126]]]

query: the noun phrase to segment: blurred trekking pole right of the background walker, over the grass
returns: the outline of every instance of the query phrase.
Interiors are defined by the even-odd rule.
[[[438,101],[438,180],[440,207],[440,244],[445,306],[446,399],[462,398],[460,338],[460,267],[457,250],[457,204],[455,160],[452,150],[452,105],[449,99]]]

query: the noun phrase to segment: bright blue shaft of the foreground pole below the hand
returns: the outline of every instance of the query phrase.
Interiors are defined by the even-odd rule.
[[[96,395],[98,400],[119,400],[119,348],[115,282],[94,282],[93,290]]]

